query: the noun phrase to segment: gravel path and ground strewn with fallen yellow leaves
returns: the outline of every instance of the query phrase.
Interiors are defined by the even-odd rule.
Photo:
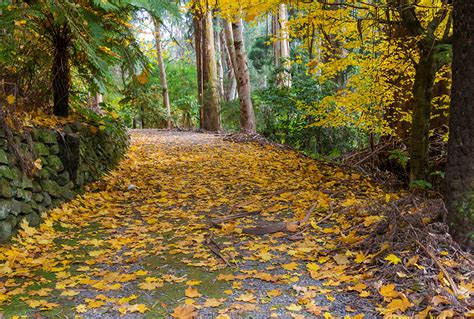
[[[380,240],[411,234],[383,209],[406,196],[277,146],[133,131],[119,167],[0,247],[0,318],[461,314],[469,257]]]

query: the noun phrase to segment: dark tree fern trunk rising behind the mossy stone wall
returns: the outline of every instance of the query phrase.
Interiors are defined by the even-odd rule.
[[[69,87],[71,71],[69,66],[69,49],[71,37],[66,23],[55,27],[53,34],[54,60],[52,66],[53,113],[56,116],[69,115]]]

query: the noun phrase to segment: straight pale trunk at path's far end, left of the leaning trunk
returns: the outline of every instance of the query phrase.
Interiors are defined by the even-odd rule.
[[[204,74],[203,89],[203,129],[206,131],[220,130],[220,105],[219,88],[217,81],[216,51],[214,48],[214,30],[212,24],[212,12],[208,10],[204,14],[203,23]]]

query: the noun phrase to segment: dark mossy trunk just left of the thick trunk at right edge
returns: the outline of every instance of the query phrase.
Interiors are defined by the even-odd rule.
[[[431,98],[436,74],[432,52],[422,51],[413,84],[413,113],[410,140],[410,180],[428,177]]]

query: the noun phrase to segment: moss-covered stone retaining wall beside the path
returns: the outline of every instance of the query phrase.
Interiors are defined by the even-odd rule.
[[[21,169],[11,136],[13,147],[36,161],[33,171]],[[82,123],[32,128],[26,134],[12,132],[10,139],[0,127],[0,242],[8,240],[23,219],[38,225],[42,211],[72,199],[100,178],[127,146],[128,135],[118,123],[103,130]]]

